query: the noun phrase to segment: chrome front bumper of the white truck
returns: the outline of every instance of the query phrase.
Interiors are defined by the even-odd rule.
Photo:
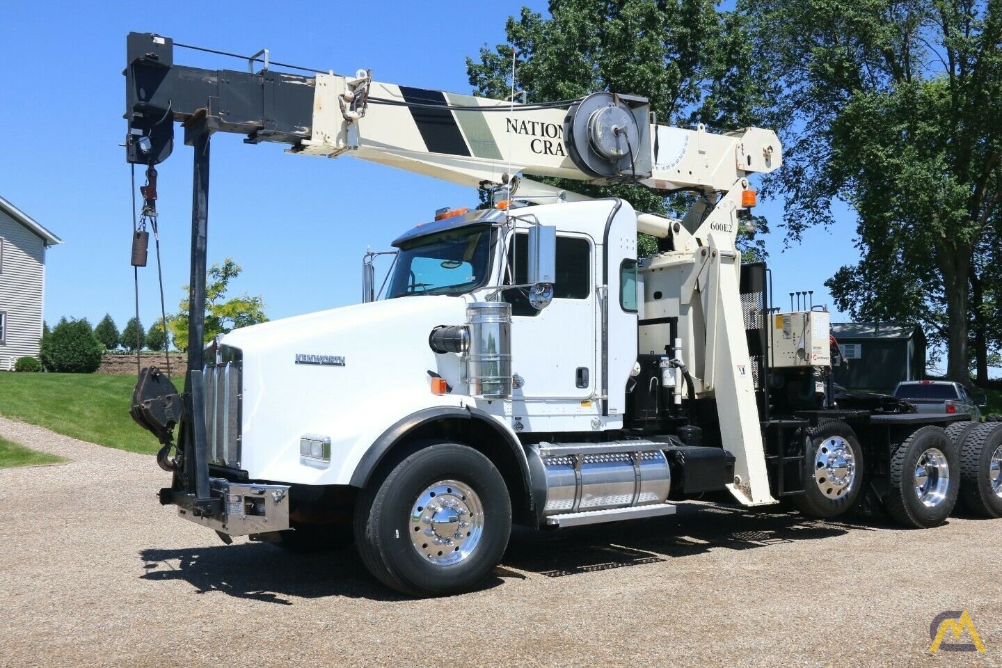
[[[289,529],[289,486],[234,483],[210,478],[211,503],[196,503],[194,495],[165,488],[160,503],[177,506],[177,514],[229,536],[265,534]]]

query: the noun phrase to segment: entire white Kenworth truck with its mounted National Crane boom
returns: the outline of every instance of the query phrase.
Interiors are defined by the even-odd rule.
[[[267,52],[246,71],[198,69],[174,64],[174,46],[128,36],[126,151],[147,168],[151,216],[175,121],[194,148],[191,342],[204,341],[213,132],[494,197],[416,212],[382,298],[370,253],[363,303],[196,346],[182,392],[143,370],[132,415],[163,444],[159,500],[182,518],[227,543],[354,539],[387,586],[442,595],[491,572],[512,523],[664,516],[708,492],[824,518],[880,507],[916,528],[958,495],[1002,514],[1002,431],[837,396],[828,313],[779,312],[765,265],[742,265],[748,175],[782,162],[773,132],[657,125],[645,99],[608,92],[515,104],[364,70],[293,74]],[[698,197],[670,219],[523,171]],[[637,257],[638,230],[657,254]]]

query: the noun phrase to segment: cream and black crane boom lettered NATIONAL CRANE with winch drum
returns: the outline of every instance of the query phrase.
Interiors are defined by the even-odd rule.
[[[494,100],[354,77],[175,65],[173,42],[130,33],[128,160],[158,163],[172,122],[278,141],[307,155],[356,157],[474,187],[520,172],[662,190],[726,191],[782,162],[774,132],[727,133],[649,123],[647,100],[594,93],[580,100]],[[254,61],[250,61],[250,65]],[[185,143],[191,143],[188,133]]]

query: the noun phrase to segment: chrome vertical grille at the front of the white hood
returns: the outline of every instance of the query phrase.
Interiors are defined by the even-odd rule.
[[[240,404],[242,356],[229,346],[205,351],[205,434],[208,463],[240,467]]]

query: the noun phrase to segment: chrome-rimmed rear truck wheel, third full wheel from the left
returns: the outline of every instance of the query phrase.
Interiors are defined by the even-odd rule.
[[[950,516],[960,491],[957,448],[939,427],[917,430],[891,455],[888,513],[915,529],[936,527]]]

